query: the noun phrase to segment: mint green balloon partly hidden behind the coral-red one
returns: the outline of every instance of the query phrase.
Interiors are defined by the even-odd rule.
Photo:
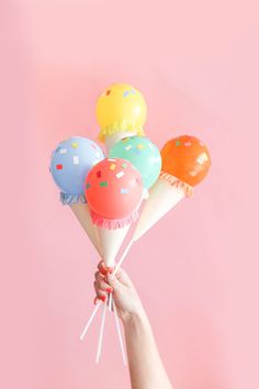
[[[109,157],[130,160],[140,173],[146,189],[156,182],[161,171],[160,152],[144,136],[124,137],[110,149]]]

